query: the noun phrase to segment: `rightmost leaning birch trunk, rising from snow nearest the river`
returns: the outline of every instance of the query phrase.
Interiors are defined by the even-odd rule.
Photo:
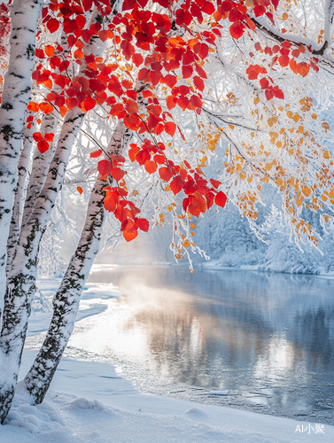
[[[121,154],[131,136],[132,131],[120,121],[108,145],[109,155]],[[53,315],[48,333],[33,366],[24,379],[27,391],[31,394],[32,404],[43,401],[74,330],[82,291],[99,250],[105,212],[103,206],[105,185],[104,180],[97,179],[91,191],[82,236],[53,299]]]

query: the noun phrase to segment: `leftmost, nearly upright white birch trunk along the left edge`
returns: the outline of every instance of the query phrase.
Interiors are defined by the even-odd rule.
[[[0,110],[0,318],[4,304],[7,239],[18,182],[23,121],[35,62],[35,29],[42,3],[42,0],[14,0],[11,11],[11,55],[4,75]]]

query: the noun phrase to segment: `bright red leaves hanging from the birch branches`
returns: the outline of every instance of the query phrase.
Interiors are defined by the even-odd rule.
[[[183,111],[201,113],[206,81],[205,60],[209,51],[214,51],[221,28],[226,27],[221,20],[229,21],[230,35],[238,39],[246,28],[254,29],[249,18],[250,9],[256,17],[267,15],[273,21],[270,8],[273,5],[276,9],[278,1],[254,0],[250,8],[239,0],[218,0],[215,3],[210,0],[185,0],[182,5],[173,7],[169,0],[153,0],[166,10],[166,13],[163,13],[164,10],[158,13],[146,8],[148,0],[125,0],[122,12],[112,15],[109,0],[50,0],[49,6],[43,9],[43,25],[51,34],[62,26],[67,35],[68,51],[71,52],[65,52],[58,42],[36,50],[36,57],[42,63],[36,66],[33,79],[50,89],[50,92],[46,95],[47,101],[41,104],[30,102],[28,109],[35,113],[50,113],[57,108],[64,116],[67,110],[75,106],[88,112],[97,105],[104,105],[113,117],[123,119],[128,128],[139,134],[159,136],[166,133],[174,136],[177,126],[168,111],[179,106]],[[109,16],[108,21],[87,22],[85,12],[93,4],[103,18]],[[190,24],[194,19],[199,24],[205,19],[211,20],[211,29],[193,32]],[[175,27],[183,27],[187,38],[171,36]],[[146,84],[140,94],[135,89],[131,74],[125,70],[120,77],[120,66],[116,59],[115,63],[105,63],[103,58],[83,51],[92,36],[102,42],[113,42],[115,58],[120,56],[129,66],[136,66],[137,80]],[[263,51],[256,45],[255,49]],[[287,63],[294,72],[303,76],[307,74],[309,66],[305,62],[295,61],[299,56],[297,52],[302,52],[301,48],[291,51],[291,45],[283,43],[264,51],[273,56],[272,64],[278,62],[281,66],[287,66]],[[82,74],[71,78],[68,74],[71,63],[82,66]],[[311,60],[310,66],[317,68],[314,60]],[[263,66],[248,66],[246,74],[250,80],[257,80],[260,75],[260,87],[265,90],[268,100],[272,97],[284,98],[282,89],[274,85]],[[168,91],[168,111],[164,111],[155,95],[154,89],[159,84]],[[144,111],[140,101],[143,98]],[[37,141],[40,144],[47,142],[45,136]],[[225,205],[225,194],[217,190],[219,182],[208,181],[200,168],[193,170],[186,161],[176,165],[167,159],[164,150],[163,144],[151,144],[145,139],[140,147],[131,145],[129,158],[143,165],[148,174],[157,171],[174,194],[183,191],[183,209],[192,215],[205,213],[214,202],[218,206]],[[92,157],[98,157],[101,153],[102,150],[93,152]],[[105,188],[105,209],[113,212],[121,221],[123,235],[129,240],[136,237],[138,229],[147,230],[149,225],[148,221],[137,217],[139,209],[127,199],[126,173],[122,163],[122,157],[112,157],[100,160],[97,168],[102,179],[112,176],[118,183],[117,187]]]

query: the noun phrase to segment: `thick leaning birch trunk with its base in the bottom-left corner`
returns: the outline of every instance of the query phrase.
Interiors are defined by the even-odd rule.
[[[90,18],[90,21],[94,22],[95,20],[97,20],[96,9]],[[97,45],[95,42],[96,39],[92,37],[89,45],[84,48],[83,51],[87,55],[93,53],[95,56],[99,56],[104,51],[105,46]],[[82,74],[85,68],[86,64],[83,63],[80,71]],[[0,423],[4,423],[4,418],[11,408],[18,380],[21,355],[27,333],[27,321],[35,295],[40,241],[61,189],[68,159],[84,115],[82,110],[77,107],[66,113],[43,190],[36,200],[35,209],[26,226],[21,229],[12,260],[12,269],[7,275],[0,336],[0,361],[2,361],[3,367],[8,370],[0,373]]]

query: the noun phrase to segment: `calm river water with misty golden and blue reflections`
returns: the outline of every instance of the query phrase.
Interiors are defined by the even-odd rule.
[[[334,280],[132,267],[89,281],[118,285],[124,299],[78,323],[72,346],[190,386],[183,398],[332,423]]]

